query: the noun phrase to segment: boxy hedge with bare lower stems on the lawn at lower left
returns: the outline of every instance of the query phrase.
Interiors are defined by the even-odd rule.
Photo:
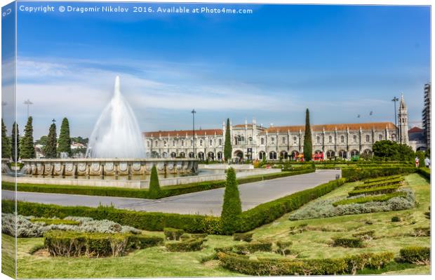
[[[44,234],[44,246],[50,255],[62,257],[118,257],[132,248],[142,249],[163,244],[163,238],[134,234],[98,232],[65,232],[54,230]]]

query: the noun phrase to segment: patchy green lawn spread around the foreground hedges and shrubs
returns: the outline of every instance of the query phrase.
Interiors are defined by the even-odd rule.
[[[346,195],[354,185],[352,182],[339,187],[322,196],[327,199],[333,196]],[[391,251],[398,253],[404,246],[430,246],[429,237],[414,237],[409,234],[413,228],[430,226],[424,212],[430,205],[429,182],[418,174],[406,176],[406,184],[413,188],[418,204],[406,211],[387,213],[370,213],[346,215],[333,218],[312,220],[288,220],[288,215],[272,224],[255,229],[254,239],[272,239],[293,241],[292,248],[305,258],[334,258],[347,254],[363,252]],[[391,222],[391,217],[399,215],[402,222]],[[372,223],[372,225],[369,225]],[[301,234],[291,235],[290,227],[307,223],[311,227],[323,227],[327,230],[342,232],[326,232],[308,230]],[[352,234],[365,230],[375,230],[375,239],[367,242],[366,248],[330,247],[328,242],[333,236]],[[149,233],[149,232],[148,232]],[[163,236],[161,232],[152,232]],[[9,237],[2,235],[5,241]],[[232,241],[231,236],[208,236],[204,248],[199,252],[168,253],[164,247],[147,248],[134,251],[120,258],[52,258],[45,255],[30,255],[29,251],[36,245],[44,244],[44,239],[18,239],[18,277],[19,278],[87,278],[87,277],[157,277],[157,276],[236,276],[219,267],[216,260],[201,262],[213,254],[213,248],[230,246],[239,242]],[[271,255],[271,253],[263,253]],[[365,269],[363,274],[428,274],[429,266],[403,265],[392,263],[384,269]]]

